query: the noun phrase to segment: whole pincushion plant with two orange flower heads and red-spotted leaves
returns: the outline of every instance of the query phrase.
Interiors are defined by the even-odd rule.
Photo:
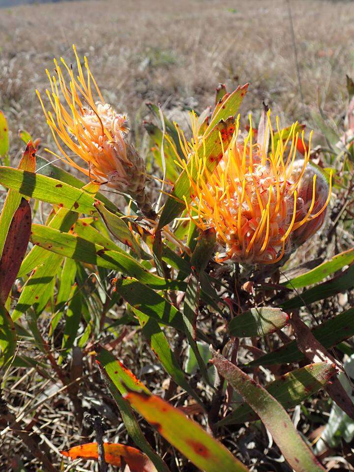
[[[247,85],[232,93],[219,87],[212,113],[190,113],[189,132],[148,104],[158,123],[145,122],[157,189],[149,185],[126,115],[105,102],[88,59],[75,48],[74,55],[77,72],[55,60],[55,74],[47,71],[50,89],[37,94],[59,150],[49,152],[79,178],[36,155],[28,134],[18,168],[0,167],[0,183],[10,189],[0,215],[5,381],[16,379],[16,369],[27,377],[26,359],[35,369],[22,345],[16,347],[25,337],[42,356],[36,381],[53,377],[63,384],[79,427],[86,389],[96,396],[97,382],[100,392],[108,388],[129,444],[103,443],[96,431],[96,442],[71,447],[66,441],[63,451],[96,459],[101,470],[106,461],[133,472],[169,472],[176,464],[189,471],[190,461],[206,472],[263,471],[263,453],[255,464],[237,447],[237,424],[263,442],[264,431],[254,426],[261,420],[293,470],[324,471],[286,410],[325,389],[324,412],[336,402],[354,416],[336,378],[342,359],[327,351],[353,349],[344,341],[354,335],[354,308],[335,315],[331,309],[316,330],[302,321],[309,304],[352,287],[354,249],[342,247],[320,266],[311,263],[310,271],[302,261],[303,273],[280,280],[280,267],[291,255],[298,265],[296,250],[308,240],[316,256],[311,237],[320,235],[331,211],[332,172],[313,162],[312,133],[307,141],[303,125],[281,128],[267,110],[258,128],[249,117],[243,131],[238,110]],[[124,209],[104,195],[106,188],[125,197]],[[32,200],[52,205],[46,221],[32,216]],[[102,376],[94,385],[92,356]],[[124,366],[129,359],[141,380]],[[140,368],[145,363],[156,366],[153,380]],[[43,369],[49,372],[42,378]],[[166,381],[164,390],[159,385]],[[59,447],[55,432],[50,440]],[[33,448],[32,454],[45,470],[58,462]]]

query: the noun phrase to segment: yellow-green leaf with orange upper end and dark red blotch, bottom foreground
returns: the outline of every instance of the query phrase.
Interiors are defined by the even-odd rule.
[[[246,472],[248,469],[226,447],[195,421],[156,395],[130,391],[124,395],[168,442],[205,472]]]

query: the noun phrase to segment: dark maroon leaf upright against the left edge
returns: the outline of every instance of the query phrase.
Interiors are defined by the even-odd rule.
[[[0,259],[0,304],[4,305],[29,243],[31,209],[26,199],[12,218]]]

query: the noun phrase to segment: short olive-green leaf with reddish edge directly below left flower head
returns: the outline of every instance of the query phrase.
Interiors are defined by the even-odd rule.
[[[95,202],[94,206],[113,236],[116,236],[123,244],[131,247],[141,259],[152,259],[152,257],[139,245],[133,233],[125,223],[125,220],[121,218],[123,215],[112,213],[99,201]]]

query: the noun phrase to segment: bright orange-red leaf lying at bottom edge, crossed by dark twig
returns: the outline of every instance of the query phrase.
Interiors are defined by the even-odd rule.
[[[119,467],[121,457],[123,457],[131,472],[156,472],[155,466],[148,456],[135,447],[114,442],[105,442],[104,451],[107,464]],[[88,442],[74,446],[67,451],[61,451],[61,454],[71,459],[93,459],[97,461],[97,442]]]

